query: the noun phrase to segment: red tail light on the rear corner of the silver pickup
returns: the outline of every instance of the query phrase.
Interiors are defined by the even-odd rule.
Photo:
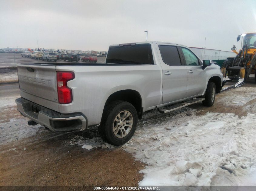
[[[68,88],[67,82],[74,78],[74,72],[57,72],[57,90],[59,103],[67,104],[72,102],[72,90]]]

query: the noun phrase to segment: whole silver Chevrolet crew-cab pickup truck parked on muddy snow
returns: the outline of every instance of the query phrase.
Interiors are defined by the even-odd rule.
[[[29,125],[53,132],[97,127],[103,140],[122,145],[143,112],[166,113],[202,101],[212,106],[222,73],[188,47],[164,42],[109,46],[103,64],[19,64],[18,111]]]

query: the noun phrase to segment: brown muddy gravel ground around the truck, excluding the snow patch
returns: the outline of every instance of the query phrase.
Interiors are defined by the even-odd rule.
[[[27,119],[16,110],[17,97],[17,92],[0,97],[0,186],[137,186],[143,179],[141,172],[147,164],[134,158],[132,151],[126,152],[128,147],[125,151],[94,139],[99,137],[96,129],[57,134],[40,125],[28,126]],[[255,114],[255,108],[256,85],[250,80],[239,88],[217,94],[212,107],[197,103],[185,111],[196,110],[197,116],[218,112],[241,117],[248,112]],[[163,115],[161,120],[176,114]],[[155,115],[159,114],[145,113],[139,126],[158,126],[159,118]],[[98,146],[93,145],[91,150],[82,148],[88,140],[95,140]]]

